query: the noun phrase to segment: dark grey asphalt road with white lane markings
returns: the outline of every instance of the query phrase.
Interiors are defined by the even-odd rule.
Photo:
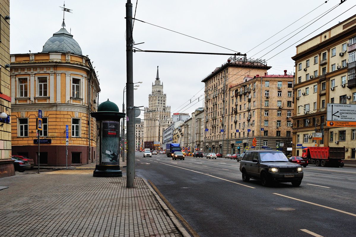
[[[225,158],[136,152],[135,165],[200,236],[356,236],[355,168],[309,165],[299,187],[263,187]]]

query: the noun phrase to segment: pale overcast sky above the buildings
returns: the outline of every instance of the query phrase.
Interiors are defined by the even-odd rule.
[[[109,99],[119,106],[120,111],[122,91],[126,83],[126,2],[127,0],[65,2],[65,7],[72,10],[72,13],[65,12],[66,29],[79,43],[83,55],[89,55],[95,71],[98,71],[101,88],[99,102]],[[247,53],[248,58],[266,60],[267,65],[272,66],[268,74],[283,74],[285,69],[288,74],[293,74],[295,69],[291,57],[295,55],[295,46],[298,43],[320,34],[356,12],[355,1],[347,0],[310,25],[319,15],[324,15],[338,5],[340,0],[329,0],[327,3],[325,0],[138,0],[137,6],[136,0],[131,2],[133,14],[136,10],[136,19],[147,22],[134,23],[135,43],[145,42],[136,45],[137,48]],[[28,50],[41,52],[46,41],[61,29],[63,11],[60,6],[63,6],[63,0],[11,0],[10,53],[28,53]],[[309,15],[303,17],[309,12]],[[303,18],[300,19],[301,17]],[[315,17],[318,18],[314,20]],[[298,19],[300,20],[297,21]],[[295,23],[289,26],[293,22]],[[286,30],[273,36],[285,27]],[[321,28],[317,30],[319,27]],[[315,32],[312,33],[313,31]],[[283,39],[280,40],[281,38]],[[155,81],[159,66],[163,92],[167,94],[166,104],[171,106],[171,112],[191,114],[196,108],[203,107],[204,83],[201,80],[229,57],[134,53],[133,82],[143,82],[134,91],[135,105],[148,106],[148,94],[152,92],[152,82]],[[189,103],[190,99],[192,103]]]

